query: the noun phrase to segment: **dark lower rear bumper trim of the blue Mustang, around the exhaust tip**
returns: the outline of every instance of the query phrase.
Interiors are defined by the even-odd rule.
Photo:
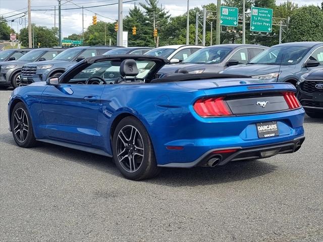
[[[194,166],[205,166],[208,160],[219,158],[218,165],[225,165],[230,161],[246,160],[246,159],[262,159],[268,158],[277,154],[294,153],[301,148],[305,140],[304,136],[295,138],[289,142],[278,143],[275,145],[262,145],[249,148],[242,147],[227,147],[221,149],[212,149],[200,156],[198,159],[189,163],[168,163],[158,165],[159,167],[181,167],[191,168]],[[231,153],[221,153],[223,150],[236,150]],[[219,152],[219,153],[218,153]]]

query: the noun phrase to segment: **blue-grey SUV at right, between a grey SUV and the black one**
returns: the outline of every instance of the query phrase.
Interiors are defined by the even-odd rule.
[[[323,42],[293,42],[274,45],[247,64],[229,67],[222,73],[296,85],[301,75],[322,65]]]

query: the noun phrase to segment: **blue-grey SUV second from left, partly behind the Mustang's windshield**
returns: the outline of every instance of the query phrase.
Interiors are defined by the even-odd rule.
[[[59,77],[66,69],[72,67],[82,59],[102,55],[108,50],[120,48],[117,46],[80,46],[66,49],[52,61],[42,63],[29,63],[22,68],[22,85],[33,82],[46,81],[48,77]]]

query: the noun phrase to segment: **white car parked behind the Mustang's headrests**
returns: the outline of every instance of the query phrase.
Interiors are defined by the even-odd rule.
[[[188,56],[190,56],[195,51],[203,48],[204,46],[198,45],[167,45],[158,48],[151,49],[145,54],[152,56],[161,56],[169,59],[171,63],[180,63],[184,61]]]

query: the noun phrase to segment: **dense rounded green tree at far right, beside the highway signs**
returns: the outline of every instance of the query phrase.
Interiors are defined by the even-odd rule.
[[[291,16],[287,39],[294,41],[323,40],[323,12],[316,6],[297,9]]]

